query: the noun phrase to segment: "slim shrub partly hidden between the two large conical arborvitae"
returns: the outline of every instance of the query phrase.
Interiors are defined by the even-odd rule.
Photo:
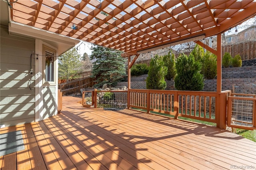
[[[164,65],[167,67],[167,74],[166,74],[165,78],[167,80],[174,79],[176,76],[174,53],[169,52],[168,55],[164,55],[163,61],[164,61]]]

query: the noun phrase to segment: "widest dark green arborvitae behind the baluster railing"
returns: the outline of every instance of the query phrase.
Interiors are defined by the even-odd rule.
[[[204,88],[203,75],[200,73],[202,65],[195,61],[193,55],[184,53],[177,58],[175,88],[177,90],[200,91]]]

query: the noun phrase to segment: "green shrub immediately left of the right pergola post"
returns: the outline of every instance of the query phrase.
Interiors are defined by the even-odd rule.
[[[207,51],[202,61],[202,73],[206,79],[214,79],[217,75],[217,56]]]

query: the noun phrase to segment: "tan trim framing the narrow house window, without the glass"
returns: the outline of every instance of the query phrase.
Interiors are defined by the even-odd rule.
[[[53,73],[53,80],[54,81],[46,81],[46,51],[49,51],[50,53],[53,53],[53,59],[54,59],[54,73]],[[57,67],[57,57],[56,56],[56,50],[52,49],[51,47],[48,47],[47,45],[43,44],[43,70],[44,70],[44,75],[43,75],[43,84],[44,86],[48,86],[48,85],[56,85],[56,67]]]

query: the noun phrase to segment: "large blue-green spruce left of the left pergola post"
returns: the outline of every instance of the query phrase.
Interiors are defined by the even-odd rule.
[[[94,87],[102,87],[105,83],[115,86],[126,75],[126,65],[122,51],[96,45],[92,47],[90,59],[93,61],[92,77],[95,77]]]

